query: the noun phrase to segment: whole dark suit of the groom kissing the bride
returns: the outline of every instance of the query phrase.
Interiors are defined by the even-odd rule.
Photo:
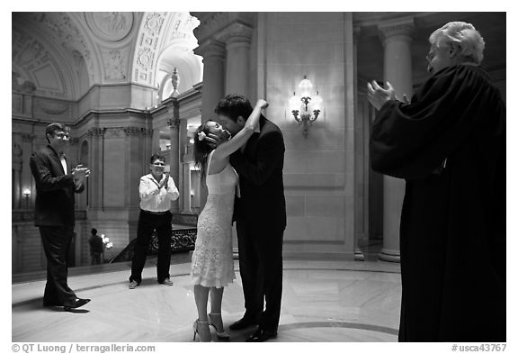
[[[282,238],[286,202],[282,182],[284,140],[277,125],[261,116],[244,152],[230,163],[239,175],[236,198],[239,272],[245,293],[245,318],[258,320],[265,331],[277,331],[281,314]],[[264,299],[266,309],[263,312]]]

